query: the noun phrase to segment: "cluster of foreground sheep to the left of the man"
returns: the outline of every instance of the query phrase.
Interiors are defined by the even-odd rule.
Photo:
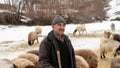
[[[40,68],[38,56],[28,52],[13,60],[1,59],[0,66],[1,68]]]

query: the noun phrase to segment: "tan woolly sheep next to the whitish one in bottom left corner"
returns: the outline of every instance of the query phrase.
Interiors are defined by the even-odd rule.
[[[18,68],[35,68],[35,65],[31,61],[24,58],[15,58],[12,61]]]

